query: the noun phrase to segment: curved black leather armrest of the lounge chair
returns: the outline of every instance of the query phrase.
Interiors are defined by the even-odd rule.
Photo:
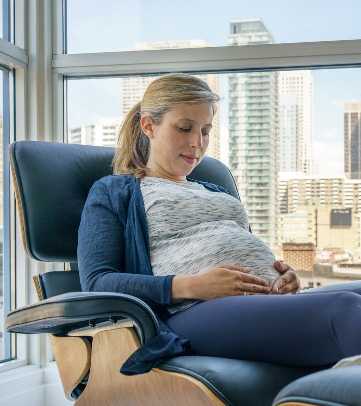
[[[146,303],[110,292],[70,292],[41,300],[11,311],[6,328],[13,333],[66,336],[72,330],[120,318],[134,321],[142,344],[159,334],[156,317]]]

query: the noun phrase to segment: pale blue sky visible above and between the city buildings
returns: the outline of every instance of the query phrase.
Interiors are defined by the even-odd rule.
[[[361,39],[357,0],[342,5],[329,0],[69,0],[67,12],[68,53],[129,50],[136,42],[165,40],[203,39],[226,46],[230,20],[252,17],[263,19],[276,43]],[[361,68],[314,70],[312,75],[319,174],[336,176],[343,174],[344,103],[361,101]],[[119,79],[69,81],[68,125],[119,115],[120,94]],[[223,104],[226,127],[227,99]]]

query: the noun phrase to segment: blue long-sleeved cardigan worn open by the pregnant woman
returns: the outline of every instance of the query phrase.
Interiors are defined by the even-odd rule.
[[[211,183],[198,183],[214,192],[229,193]],[[174,275],[153,275],[139,179],[110,175],[94,183],[79,226],[78,264],[84,291],[136,296],[158,317],[160,335],[132,354],[122,373],[148,372],[169,357],[194,354],[189,341],[180,340],[163,322],[169,316],[164,305],[171,303]]]

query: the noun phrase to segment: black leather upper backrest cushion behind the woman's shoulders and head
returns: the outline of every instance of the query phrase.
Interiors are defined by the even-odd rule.
[[[42,141],[9,146],[27,254],[39,261],[77,262],[78,227],[93,183],[111,174],[115,148]],[[221,162],[204,157],[190,177],[223,186],[238,197]]]

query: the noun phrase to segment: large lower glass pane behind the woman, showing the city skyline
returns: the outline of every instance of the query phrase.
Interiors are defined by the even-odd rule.
[[[203,78],[223,98],[211,132],[219,150],[208,154],[233,173],[253,233],[304,288],[360,279],[361,69]],[[68,142],[115,145],[149,81],[68,81]]]

